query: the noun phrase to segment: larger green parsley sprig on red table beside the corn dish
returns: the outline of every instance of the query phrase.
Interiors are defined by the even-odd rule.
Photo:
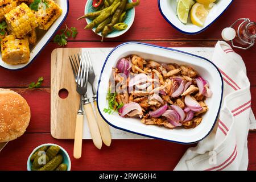
[[[59,46],[66,46],[68,41],[67,39],[72,37],[73,39],[76,38],[78,34],[76,27],[68,28],[67,24],[66,27],[60,30],[61,34],[58,34],[53,39],[54,43],[57,43]]]

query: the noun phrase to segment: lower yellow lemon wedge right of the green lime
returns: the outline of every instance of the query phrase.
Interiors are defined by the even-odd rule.
[[[200,3],[195,3],[191,9],[191,21],[196,26],[204,26],[209,11]]]

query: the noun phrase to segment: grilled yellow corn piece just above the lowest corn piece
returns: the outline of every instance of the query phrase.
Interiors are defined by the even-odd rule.
[[[19,39],[38,27],[34,13],[25,3],[11,10],[5,15],[5,18],[7,29]]]

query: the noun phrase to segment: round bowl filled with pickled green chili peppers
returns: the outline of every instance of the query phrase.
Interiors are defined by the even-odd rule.
[[[104,38],[115,38],[125,34],[135,18],[135,6],[140,0],[88,0],[85,5],[85,29],[92,30]]]

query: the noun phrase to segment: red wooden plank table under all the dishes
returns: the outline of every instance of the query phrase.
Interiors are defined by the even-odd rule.
[[[100,37],[92,31],[83,30],[85,22],[77,21],[84,14],[86,0],[70,0],[70,10],[65,23],[77,27],[79,34],[75,40],[69,40],[67,47],[115,47],[127,41],[139,41],[166,47],[214,47],[221,39],[221,30],[237,18],[256,20],[256,2],[254,0],[234,0],[229,9],[199,35],[184,35],[175,30],[160,15],[156,0],[141,0],[136,8],[133,26],[126,34],[100,42]],[[31,122],[26,133],[7,144],[0,153],[0,170],[26,170],[30,152],[43,143],[56,143],[64,147],[71,156],[73,170],[172,170],[185,150],[191,145],[175,144],[162,140],[113,140],[111,147],[98,150],[91,140],[84,140],[82,158],[73,158],[73,140],[57,140],[50,134],[50,57],[57,48],[52,42],[28,68],[22,71],[7,71],[0,68],[0,88],[13,89],[26,98],[31,107]],[[256,46],[242,51],[247,75],[251,82],[251,96],[256,113]],[[43,76],[40,89],[28,90],[30,82]],[[256,133],[248,137],[249,167],[256,169]]]

